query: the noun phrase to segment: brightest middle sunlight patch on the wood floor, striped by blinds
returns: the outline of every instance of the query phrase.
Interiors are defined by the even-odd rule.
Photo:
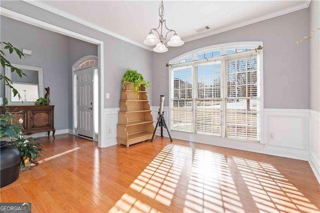
[[[244,212],[224,155],[195,149],[184,212]]]

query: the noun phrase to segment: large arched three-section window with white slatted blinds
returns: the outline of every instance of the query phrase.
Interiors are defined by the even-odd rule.
[[[171,130],[259,141],[259,51],[237,45],[184,55],[169,68]]]

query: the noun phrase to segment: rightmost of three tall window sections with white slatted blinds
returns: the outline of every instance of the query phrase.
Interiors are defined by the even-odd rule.
[[[225,136],[258,141],[257,56],[224,61]]]

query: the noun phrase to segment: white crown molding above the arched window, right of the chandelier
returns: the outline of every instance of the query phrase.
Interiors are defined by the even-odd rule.
[[[221,27],[221,28],[218,28],[218,29],[213,29],[213,30],[211,30],[209,32],[206,32],[206,33],[204,32],[204,33],[201,33],[201,34],[198,34],[198,35],[195,35],[195,36],[190,36],[190,37],[187,37],[187,38],[183,38],[183,40],[184,40],[184,42],[191,41],[191,40],[196,40],[196,39],[199,39],[199,38],[207,37],[207,36],[210,36],[210,35],[218,34],[218,33],[221,33],[221,32],[225,32],[225,31],[228,31],[228,30],[231,30],[231,29],[235,29],[235,28],[239,28],[239,27],[242,27],[242,26],[246,26],[246,25],[249,25],[249,24],[252,24],[252,23],[256,23],[256,22],[259,22],[259,21],[263,21],[263,20],[266,20],[266,19],[270,19],[270,18],[273,18],[273,17],[284,15],[284,14],[287,14],[287,13],[290,13],[290,12],[294,12],[294,11],[297,11],[297,10],[300,10],[300,9],[304,9],[304,8],[309,7],[310,1],[311,0],[306,0],[305,2],[303,2],[301,4],[298,4],[298,5],[295,5],[295,6],[291,6],[291,7],[285,8],[285,9],[281,9],[281,10],[278,10],[278,11],[275,11],[275,12],[271,12],[271,13],[268,13],[268,14],[265,14],[265,15],[261,15],[261,16],[258,16],[258,17],[255,17],[255,18],[251,18],[249,20],[241,21],[241,22],[238,22],[238,23],[235,23],[235,24],[231,24],[231,25],[228,25],[228,26],[224,26],[224,27]]]

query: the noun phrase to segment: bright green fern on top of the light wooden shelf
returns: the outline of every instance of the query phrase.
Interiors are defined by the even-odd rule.
[[[126,69],[123,77],[122,77],[122,86],[124,88],[125,82],[132,82],[133,83],[133,91],[138,93],[139,87],[142,85],[145,88],[150,87],[149,81],[144,80],[141,73],[138,73],[136,70],[131,70],[129,68]]]

